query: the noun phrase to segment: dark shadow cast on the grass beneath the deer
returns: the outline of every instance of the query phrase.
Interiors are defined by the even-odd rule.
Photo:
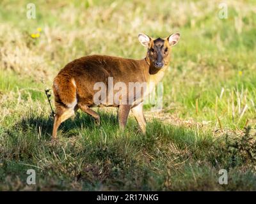
[[[100,126],[116,126],[118,124],[116,115],[113,113],[99,112],[99,115]],[[40,134],[50,137],[52,134],[53,120],[54,119],[52,117],[30,114],[28,117],[23,117],[19,122],[17,122],[15,126],[13,126],[13,129],[20,128],[24,133],[29,130],[35,130],[37,133],[40,132]],[[98,126],[95,124],[94,119],[90,115],[83,112],[77,112],[74,117],[63,122],[60,125],[60,128],[58,128],[58,131],[63,131],[65,135],[69,137],[79,133],[80,129],[95,129],[97,127]]]

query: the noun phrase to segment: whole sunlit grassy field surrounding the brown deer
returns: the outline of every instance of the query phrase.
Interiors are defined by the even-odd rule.
[[[26,17],[28,3],[0,3],[1,191],[256,190],[254,0],[40,0],[36,19]],[[133,117],[122,132],[115,110],[96,108],[100,128],[79,112],[52,145],[44,89],[67,62],[90,54],[142,59],[138,33],[175,32],[163,110],[145,106],[146,135]],[[36,185],[26,183],[28,169]],[[227,185],[218,182],[221,169]]]

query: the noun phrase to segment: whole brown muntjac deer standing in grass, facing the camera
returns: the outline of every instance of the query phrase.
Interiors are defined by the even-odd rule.
[[[54,78],[52,86],[56,107],[52,139],[56,138],[61,122],[74,115],[78,108],[91,115],[95,122],[99,124],[100,116],[91,109],[93,106],[118,107],[120,128],[125,128],[131,110],[141,131],[145,133],[146,121],[143,115],[143,97],[152,91],[152,87],[154,88],[154,85],[163,78],[170,62],[171,48],[176,45],[179,38],[179,33],[156,40],[152,40],[145,34],[139,34],[140,43],[148,48],[146,57],[140,60],[90,55],[69,62]],[[109,78],[112,80],[109,80]],[[140,92],[136,92],[136,96],[124,89],[125,91],[123,90],[121,95],[117,94],[116,96],[114,94],[113,99],[111,99],[109,97],[111,95],[109,91],[113,89],[111,85],[117,85],[120,82],[126,87],[131,82],[146,84],[146,87]],[[106,85],[105,94],[98,96],[99,91],[95,90],[95,84],[97,83]],[[134,89],[132,89],[133,91]],[[95,99],[95,95],[98,98]]]

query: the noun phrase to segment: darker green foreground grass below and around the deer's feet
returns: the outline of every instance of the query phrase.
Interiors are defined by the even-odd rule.
[[[52,120],[33,110],[4,129],[1,189],[255,190],[253,160],[230,153],[224,138],[156,120],[146,135],[134,120],[121,132],[115,115],[100,115],[100,128],[83,113],[64,122],[56,145],[49,142]],[[29,168],[37,174],[28,187]],[[221,168],[230,172],[227,186],[218,184]]]

